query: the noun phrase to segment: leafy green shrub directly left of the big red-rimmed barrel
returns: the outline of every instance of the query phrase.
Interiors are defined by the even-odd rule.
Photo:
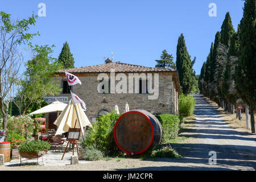
[[[122,151],[115,144],[114,125],[120,117],[116,113],[108,113],[97,118],[97,122],[93,123],[81,140],[81,146],[84,150],[100,150],[105,156],[122,155]],[[85,151],[84,151],[85,152]],[[85,152],[86,153],[86,152]]]

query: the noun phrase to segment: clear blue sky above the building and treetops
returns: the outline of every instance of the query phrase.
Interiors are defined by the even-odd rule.
[[[155,60],[166,49],[176,61],[177,40],[183,33],[191,59],[197,57],[197,75],[226,12],[230,12],[236,30],[243,13],[241,0],[2,0],[0,10],[22,19],[33,11],[38,14],[39,3],[46,4],[46,16],[31,27],[31,32],[40,33],[32,43],[54,44],[53,56],[57,58],[67,41],[75,67],[103,64],[111,52],[114,61],[155,67]],[[208,15],[210,3],[217,5],[216,17]],[[31,58],[25,47],[23,54],[24,61]]]

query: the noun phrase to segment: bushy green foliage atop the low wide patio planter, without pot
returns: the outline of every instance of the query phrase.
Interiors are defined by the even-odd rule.
[[[32,140],[32,141],[26,141],[22,145],[19,146],[19,152],[40,152],[49,150],[51,147],[51,144],[45,141],[40,140]]]

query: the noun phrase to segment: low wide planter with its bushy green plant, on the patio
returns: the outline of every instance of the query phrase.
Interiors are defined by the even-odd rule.
[[[34,159],[40,158],[47,154],[51,144],[41,140],[26,141],[18,148],[20,156],[23,158]]]

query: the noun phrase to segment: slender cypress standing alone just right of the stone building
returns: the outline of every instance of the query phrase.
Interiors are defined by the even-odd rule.
[[[176,67],[179,71],[180,86],[184,94],[189,94],[193,88],[193,68],[183,34],[177,43]]]

